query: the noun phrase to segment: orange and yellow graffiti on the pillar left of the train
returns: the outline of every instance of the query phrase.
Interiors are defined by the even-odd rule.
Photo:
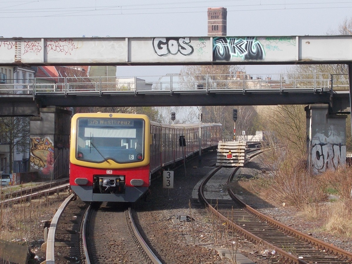
[[[31,167],[49,174],[54,166],[54,144],[50,138],[31,137],[30,148]]]

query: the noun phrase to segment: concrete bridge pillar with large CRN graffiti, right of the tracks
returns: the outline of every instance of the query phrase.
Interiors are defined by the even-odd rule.
[[[308,105],[307,118],[308,168],[318,174],[346,165],[347,115],[329,114],[327,104]]]

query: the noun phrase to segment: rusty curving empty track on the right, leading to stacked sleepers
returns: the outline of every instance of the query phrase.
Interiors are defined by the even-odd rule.
[[[256,153],[258,154],[258,153]],[[315,239],[280,222],[263,215],[257,210],[238,200],[235,194],[228,190],[227,197],[214,199],[207,194],[207,183],[217,174],[227,178],[222,185],[226,185],[237,171],[235,169],[222,169],[212,171],[199,187],[199,199],[218,215],[225,223],[233,227],[242,237],[266,245],[271,251],[271,261],[276,263],[352,263],[352,253],[339,249],[331,244]],[[228,174],[228,177],[224,177]],[[216,181],[219,181],[216,180]]]

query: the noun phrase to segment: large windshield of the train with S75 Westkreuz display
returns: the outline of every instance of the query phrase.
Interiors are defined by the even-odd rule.
[[[143,119],[79,118],[76,158],[88,162],[140,162],[144,159]]]

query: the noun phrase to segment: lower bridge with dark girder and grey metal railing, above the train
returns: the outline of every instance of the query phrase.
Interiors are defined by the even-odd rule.
[[[46,106],[308,105],[326,103],[332,113],[349,111],[349,83],[328,73],[171,75],[134,78],[73,77],[60,83],[43,78],[0,84],[0,115],[39,115]],[[337,78],[339,80],[337,80]],[[109,80],[107,82],[106,80]],[[111,81],[114,80],[115,81]],[[42,82],[42,83],[41,83]]]

